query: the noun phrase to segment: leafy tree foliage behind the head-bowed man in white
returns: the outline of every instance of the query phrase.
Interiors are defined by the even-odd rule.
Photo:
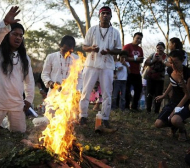
[[[63,26],[46,23],[45,27],[47,30],[30,30],[25,35],[28,55],[37,59],[44,60],[47,54],[59,51],[59,44],[64,35],[80,37],[74,21],[68,21]],[[80,50],[80,46],[76,50]]]

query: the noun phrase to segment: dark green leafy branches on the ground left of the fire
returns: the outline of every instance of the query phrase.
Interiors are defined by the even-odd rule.
[[[45,149],[23,148],[18,151],[17,148],[13,148],[7,157],[0,160],[0,165],[1,168],[24,168],[50,161],[51,159],[52,156]]]

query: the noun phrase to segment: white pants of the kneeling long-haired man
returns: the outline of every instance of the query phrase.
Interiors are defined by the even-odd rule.
[[[26,117],[24,111],[0,111],[0,124],[7,115],[10,131],[26,131]]]

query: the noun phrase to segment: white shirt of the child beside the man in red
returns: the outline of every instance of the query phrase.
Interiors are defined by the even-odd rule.
[[[130,64],[128,62],[126,62],[127,66],[130,67]],[[116,71],[116,76],[117,76],[117,79],[116,80],[127,80],[127,76],[128,76],[128,73],[127,73],[127,67],[124,66],[120,61],[117,61],[115,63],[115,68],[119,68],[119,67],[123,67],[122,70],[118,70]]]

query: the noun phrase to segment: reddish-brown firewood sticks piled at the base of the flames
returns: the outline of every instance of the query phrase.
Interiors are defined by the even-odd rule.
[[[39,144],[33,144],[30,140],[24,139],[21,142],[29,147],[31,151],[44,148]],[[84,154],[80,156],[80,144],[77,144],[76,142],[73,142],[72,150],[68,153],[69,156],[64,161],[60,161],[56,155],[52,155],[51,160],[43,161],[38,165],[30,166],[30,168],[111,168],[110,166],[106,165],[106,163],[93,157],[86,156]]]

